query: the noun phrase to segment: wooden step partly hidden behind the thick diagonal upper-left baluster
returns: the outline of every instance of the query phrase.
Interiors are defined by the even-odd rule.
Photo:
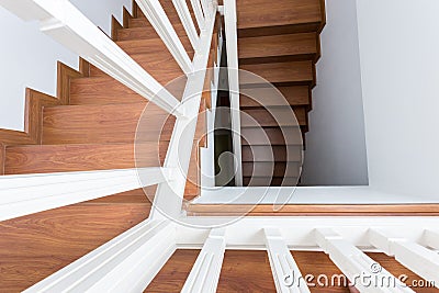
[[[131,55],[131,57],[162,86],[179,78],[179,87],[182,88],[180,91],[183,91],[182,84],[187,81],[185,75],[166,47],[162,47],[161,52],[136,54]],[[90,67],[90,76],[108,77],[105,72],[94,66]],[[178,98],[181,98],[181,95]]]

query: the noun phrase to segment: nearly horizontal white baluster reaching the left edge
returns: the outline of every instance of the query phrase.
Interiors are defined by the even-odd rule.
[[[171,179],[165,168],[103,170],[0,177],[0,221],[24,216]],[[110,183],[109,183],[110,182]]]

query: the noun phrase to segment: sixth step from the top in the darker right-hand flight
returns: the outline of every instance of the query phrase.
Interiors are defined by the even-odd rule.
[[[262,131],[264,134],[260,127],[241,127],[241,144],[267,145],[269,140],[270,145],[302,145],[302,133],[299,127],[264,127]]]

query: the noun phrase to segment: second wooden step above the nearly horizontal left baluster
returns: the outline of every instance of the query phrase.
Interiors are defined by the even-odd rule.
[[[135,138],[138,120],[148,104],[143,123],[145,142],[169,140],[175,117],[153,103],[60,105],[44,109],[43,144],[130,143]],[[164,123],[169,117],[167,123]],[[143,124],[145,125],[145,124]],[[162,127],[164,126],[164,127]]]

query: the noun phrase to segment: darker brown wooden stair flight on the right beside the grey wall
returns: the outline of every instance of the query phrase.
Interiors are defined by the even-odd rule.
[[[237,23],[239,69],[262,77],[283,95],[240,76],[240,132],[247,137],[241,147],[243,183],[294,187],[303,159],[301,132],[308,131],[325,2],[237,0]],[[293,113],[296,121],[283,122]],[[258,139],[264,135],[256,134],[258,128],[268,139]]]

